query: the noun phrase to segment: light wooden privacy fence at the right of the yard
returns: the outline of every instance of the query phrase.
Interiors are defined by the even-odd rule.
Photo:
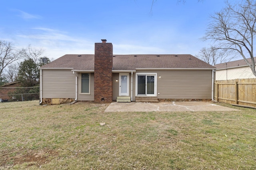
[[[256,78],[216,80],[215,100],[256,107]]]

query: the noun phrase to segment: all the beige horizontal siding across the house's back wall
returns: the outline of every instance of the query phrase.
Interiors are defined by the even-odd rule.
[[[137,70],[157,73],[158,99],[211,99],[212,70]],[[94,74],[90,74],[90,94],[80,94],[80,74],[71,70],[42,70],[42,98],[75,98],[78,76],[78,100],[94,100]],[[161,76],[161,78],[159,78]],[[129,76],[131,96],[131,73]],[[118,79],[118,82],[116,82]],[[133,101],[136,94],[136,73],[133,73]],[[113,73],[113,100],[119,96],[119,73]]]

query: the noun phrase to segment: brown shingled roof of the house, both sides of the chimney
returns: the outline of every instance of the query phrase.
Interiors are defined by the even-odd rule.
[[[64,55],[41,68],[94,70],[94,55]],[[113,55],[113,70],[136,68],[211,68],[215,67],[192,55]]]

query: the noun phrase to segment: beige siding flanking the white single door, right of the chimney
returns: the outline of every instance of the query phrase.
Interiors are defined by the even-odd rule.
[[[119,96],[119,73],[113,73],[113,101],[116,101],[116,98]],[[118,82],[116,82],[116,79]],[[129,96],[132,96],[132,101],[135,101],[135,87],[136,87],[136,74],[129,73]],[[133,81],[133,82],[132,82]],[[132,93],[132,95],[131,95]]]

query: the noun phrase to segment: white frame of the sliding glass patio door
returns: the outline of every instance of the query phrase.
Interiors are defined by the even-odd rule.
[[[139,76],[146,76],[146,84],[147,84],[147,76],[154,76],[154,94],[146,94],[145,95],[141,95],[141,94],[138,94],[138,75]],[[136,86],[135,86],[135,90],[136,90],[136,96],[138,97],[143,97],[143,96],[157,96],[157,73],[153,73],[153,72],[149,72],[149,73],[136,73]],[[145,86],[146,88],[146,86]],[[147,89],[145,89],[147,91]]]

